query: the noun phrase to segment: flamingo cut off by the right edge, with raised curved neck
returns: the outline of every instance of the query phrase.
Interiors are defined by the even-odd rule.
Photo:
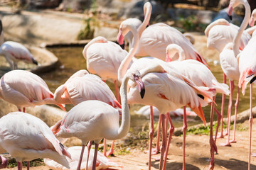
[[[245,6],[245,17],[240,26],[240,30],[245,30],[247,23],[250,20],[250,5],[246,0],[230,0],[230,4],[228,7],[228,15],[232,15],[233,8],[242,4]],[[241,32],[241,31],[240,31]],[[237,42],[241,33],[238,33],[235,37],[234,42]],[[242,94],[245,95],[245,89],[247,84],[250,82],[250,137],[249,137],[249,155],[248,155],[248,170],[250,170],[250,157],[251,157],[251,140],[252,140],[252,83],[255,81],[255,70],[256,70],[256,56],[255,56],[255,44],[256,38],[253,37],[250,39],[248,44],[245,46],[244,50],[239,52],[239,47],[237,43],[234,43],[233,51],[235,57],[238,58],[238,67],[240,72],[240,77],[238,81],[239,88],[242,88]]]

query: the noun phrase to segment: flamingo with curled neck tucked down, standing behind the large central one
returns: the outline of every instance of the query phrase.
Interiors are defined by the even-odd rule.
[[[166,61],[171,61],[171,58],[174,57],[178,53],[178,60],[174,62],[168,62],[169,67],[177,70],[183,76],[186,76],[188,79],[193,81],[196,86],[205,86],[214,90],[217,93],[229,95],[230,91],[228,90],[228,86],[226,84],[218,83],[217,79],[214,77],[213,73],[210,72],[210,69],[206,67],[206,65],[198,62],[196,60],[185,60],[184,51],[183,49],[176,45],[170,44],[166,47]],[[215,94],[216,96],[216,94]],[[217,113],[217,127],[215,133],[215,140],[213,140],[213,112],[210,112],[210,154],[211,154],[211,161],[209,169],[213,169],[214,166],[214,152],[217,152],[217,147],[215,145],[218,126],[220,124],[221,115],[214,108],[214,103],[211,103],[212,111],[215,110]],[[184,120],[186,121],[186,115],[183,116]],[[186,122],[184,122],[183,130],[183,149],[185,149],[185,140],[186,140]],[[185,152],[184,152],[185,153]],[[183,157],[183,162],[185,162],[185,157]],[[184,163],[183,163],[184,164]]]

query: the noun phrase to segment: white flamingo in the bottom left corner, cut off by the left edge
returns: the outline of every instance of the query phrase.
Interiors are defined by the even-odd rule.
[[[70,154],[57,140],[48,125],[33,115],[13,112],[0,119],[0,153],[9,152],[22,169],[21,162],[49,158],[69,169]]]

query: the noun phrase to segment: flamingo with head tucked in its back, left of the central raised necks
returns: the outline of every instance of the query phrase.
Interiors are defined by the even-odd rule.
[[[127,55],[127,51],[122,50],[116,43],[99,36],[85,45],[82,55],[87,60],[87,70],[90,73],[99,75],[104,81],[107,79],[114,80],[117,100],[120,102],[117,88],[117,70]]]

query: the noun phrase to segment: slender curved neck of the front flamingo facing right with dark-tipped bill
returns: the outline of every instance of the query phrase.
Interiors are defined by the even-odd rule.
[[[129,106],[127,101],[127,83],[129,77],[124,77],[121,87],[120,87],[120,95],[121,95],[121,103],[122,103],[122,123],[120,128],[118,129],[117,138],[122,138],[127,135],[130,127],[130,114],[129,114]]]

